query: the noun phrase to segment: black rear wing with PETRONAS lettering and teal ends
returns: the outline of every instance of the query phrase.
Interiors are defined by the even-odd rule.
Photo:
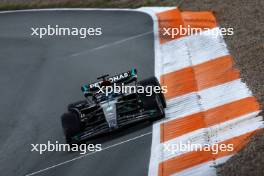
[[[133,68],[127,72],[106,78],[106,80],[110,81],[111,84],[114,84],[114,83],[129,84],[137,80],[137,70]],[[94,82],[92,84],[83,85],[81,90],[83,93],[98,91],[102,82],[103,81],[101,80],[101,81]]]

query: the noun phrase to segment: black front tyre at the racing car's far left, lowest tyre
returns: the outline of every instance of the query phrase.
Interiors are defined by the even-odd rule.
[[[79,116],[73,112],[64,113],[61,116],[61,124],[66,138],[66,143],[72,144],[72,137],[81,131],[81,121]]]

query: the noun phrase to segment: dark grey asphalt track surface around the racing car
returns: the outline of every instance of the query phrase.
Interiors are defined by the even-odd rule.
[[[60,115],[83,98],[80,86],[101,74],[134,67],[139,79],[154,75],[152,19],[130,11],[41,11],[0,14],[0,175],[26,175],[79,157],[31,152],[31,145],[64,142]],[[103,35],[31,36],[31,27],[98,26]],[[151,132],[144,123],[93,142],[108,147]],[[151,135],[122,143],[36,175],[147,175]]]

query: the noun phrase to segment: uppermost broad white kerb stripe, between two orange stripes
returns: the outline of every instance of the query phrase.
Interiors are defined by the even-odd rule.
[[[212,32],[218,35],[208,35]],[[161,45],[163,74],[229,55],[220,29],[185,36]]]

